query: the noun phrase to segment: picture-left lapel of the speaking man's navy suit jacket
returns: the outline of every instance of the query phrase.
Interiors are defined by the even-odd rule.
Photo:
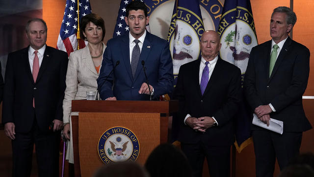
[[[132,70],[131,70],[131,63],[130,63],[130,40],[129,40],[129,33],[126,33],[122,38],[121,42],[121,54],[122,54],[122,61],[126,66],[126,70],[129,74],[130,80],[133,80]],[[115,55],[115,54],[112,54]],[[115,63],[112,63],[115,64]]]

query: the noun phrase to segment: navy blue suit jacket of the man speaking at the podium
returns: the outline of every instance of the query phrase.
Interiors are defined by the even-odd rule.
[[[131,72],[129,44],[129,33],[107,42],[97,80],[100,97],[103,100],[113,96],[117,100],[149,100],[148,94],[138,93],[141,85],[146,82],[142,60],[145,62],[149,84],[154,88],[154,98],[171,93],[174,78],[168,42],[149,32],[146,33],[134,78]],[[120,61],[120,64],[105,81],[117,61]]]

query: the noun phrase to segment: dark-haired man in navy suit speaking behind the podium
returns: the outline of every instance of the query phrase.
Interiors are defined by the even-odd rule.
[[[171,93],[174,78],[169,43],[145,30],[149,22],[145,3],[131,1],[125,21],[130,32],[110,39],[105,49],[97,79],[100,97],[103,100],[150,100],[150,94],[158,99],[159,95]],[[150,89],[142,65],[145,65]]]

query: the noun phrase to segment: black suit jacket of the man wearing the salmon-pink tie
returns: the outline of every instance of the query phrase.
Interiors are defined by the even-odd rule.
[[[46,46],[34,83],[28,47],[10,53],[5,69],[2,123],[13,122],[16,132],[26,133],[31,130],[35,116],[42,131],[48,131],[53,119],[62,121],[67,66],[67,53]]]

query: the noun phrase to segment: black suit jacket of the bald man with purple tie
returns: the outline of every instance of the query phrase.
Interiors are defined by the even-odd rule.
[[[197,143],[202,141],[210,146],[229,146],[234,142],[233,117],[240,102],[240,69],[218,58],[204,94],[201,94],[199,68],[201,59],[180,67],[174,98],[180,103],[179,141]],[[199,118],[214,117],[217,127],[206,133],[195,132],[183,120],[187,114]]]

